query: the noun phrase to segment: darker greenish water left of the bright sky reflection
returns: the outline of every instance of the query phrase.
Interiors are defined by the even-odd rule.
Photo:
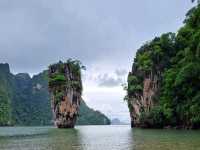
[[[78,139],[77,129],[0,128],[0,150],[72,150],[78,149]]]

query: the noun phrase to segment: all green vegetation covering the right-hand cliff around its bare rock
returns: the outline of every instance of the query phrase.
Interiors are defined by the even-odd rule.
[[[200,128],[199,5],[187,13],[184,23],[177,34],[163,34],[143,45],[134,59],[126,99],[140,95],[147,76],[157,76],[160,87],[156,106],[142,112],[144,126]]]

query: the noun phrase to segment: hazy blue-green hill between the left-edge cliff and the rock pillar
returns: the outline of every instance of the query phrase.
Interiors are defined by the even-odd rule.
[[[14,76],[14,97],[12,99],[14,125],[51,124],[47,73],[44,71],[33,78],[30,78],[28,74]]]

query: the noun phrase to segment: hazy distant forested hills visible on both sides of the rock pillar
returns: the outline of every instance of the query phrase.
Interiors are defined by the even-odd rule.
[[[31,78],[27,73],[14,75],[9,64],[0,64],[0,83],[0,126],[53,125],[48,71]],[[105,125],[110,124],[110,120],[82,100],[77,124]]]

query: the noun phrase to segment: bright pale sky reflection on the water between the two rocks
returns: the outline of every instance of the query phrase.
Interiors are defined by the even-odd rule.
[[[79,132],[83,150],[132,150],[133,135],[128,126],[87,126]]]

